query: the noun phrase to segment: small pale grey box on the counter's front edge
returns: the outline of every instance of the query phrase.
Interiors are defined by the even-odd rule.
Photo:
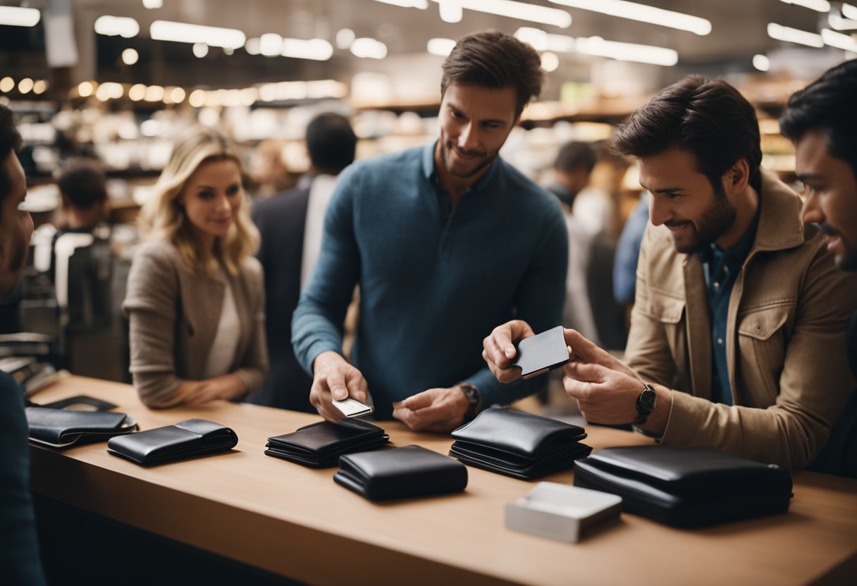
[[[557,482],[539,482],[521,499],[506,504],[506,527],[574,543],[593,526],[619,517],[615,494]]]

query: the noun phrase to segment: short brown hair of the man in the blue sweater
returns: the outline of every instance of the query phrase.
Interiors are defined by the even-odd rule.
[[[443,62],[440,94],[451,83],[491,89],[514,87],[518,94],[516,116],[542,93],[542,60],[530,45],[498,31],[471,33],[458,43]]]

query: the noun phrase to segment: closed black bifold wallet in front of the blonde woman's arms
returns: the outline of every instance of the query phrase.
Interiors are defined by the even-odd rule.
[[[149,465],[229,451],[238,443],[230,428],[205,419],[189,419],[139,434],[113,438],[107,451],[131,462]]]

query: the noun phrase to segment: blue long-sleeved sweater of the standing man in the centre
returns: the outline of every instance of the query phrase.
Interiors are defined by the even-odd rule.
[[[513,318],[536,332],[560,324],[568,236],[560,204],[496,158],[453,208],[434,172],[434,146],[359,161],[339,178],[321,253],[292,319],[298,360],[342,350],[355,284],[353,361],[375,416],[393,401],[467,381],[485,405],[539,391],[545,377],[500,384],[482,339]]]

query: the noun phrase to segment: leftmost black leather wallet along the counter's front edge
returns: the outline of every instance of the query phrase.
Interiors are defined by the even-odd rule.
[[[130,434],[136,422],[124,413],[67,411],[27,407],[30,441],[51,447],[69,447]]]

